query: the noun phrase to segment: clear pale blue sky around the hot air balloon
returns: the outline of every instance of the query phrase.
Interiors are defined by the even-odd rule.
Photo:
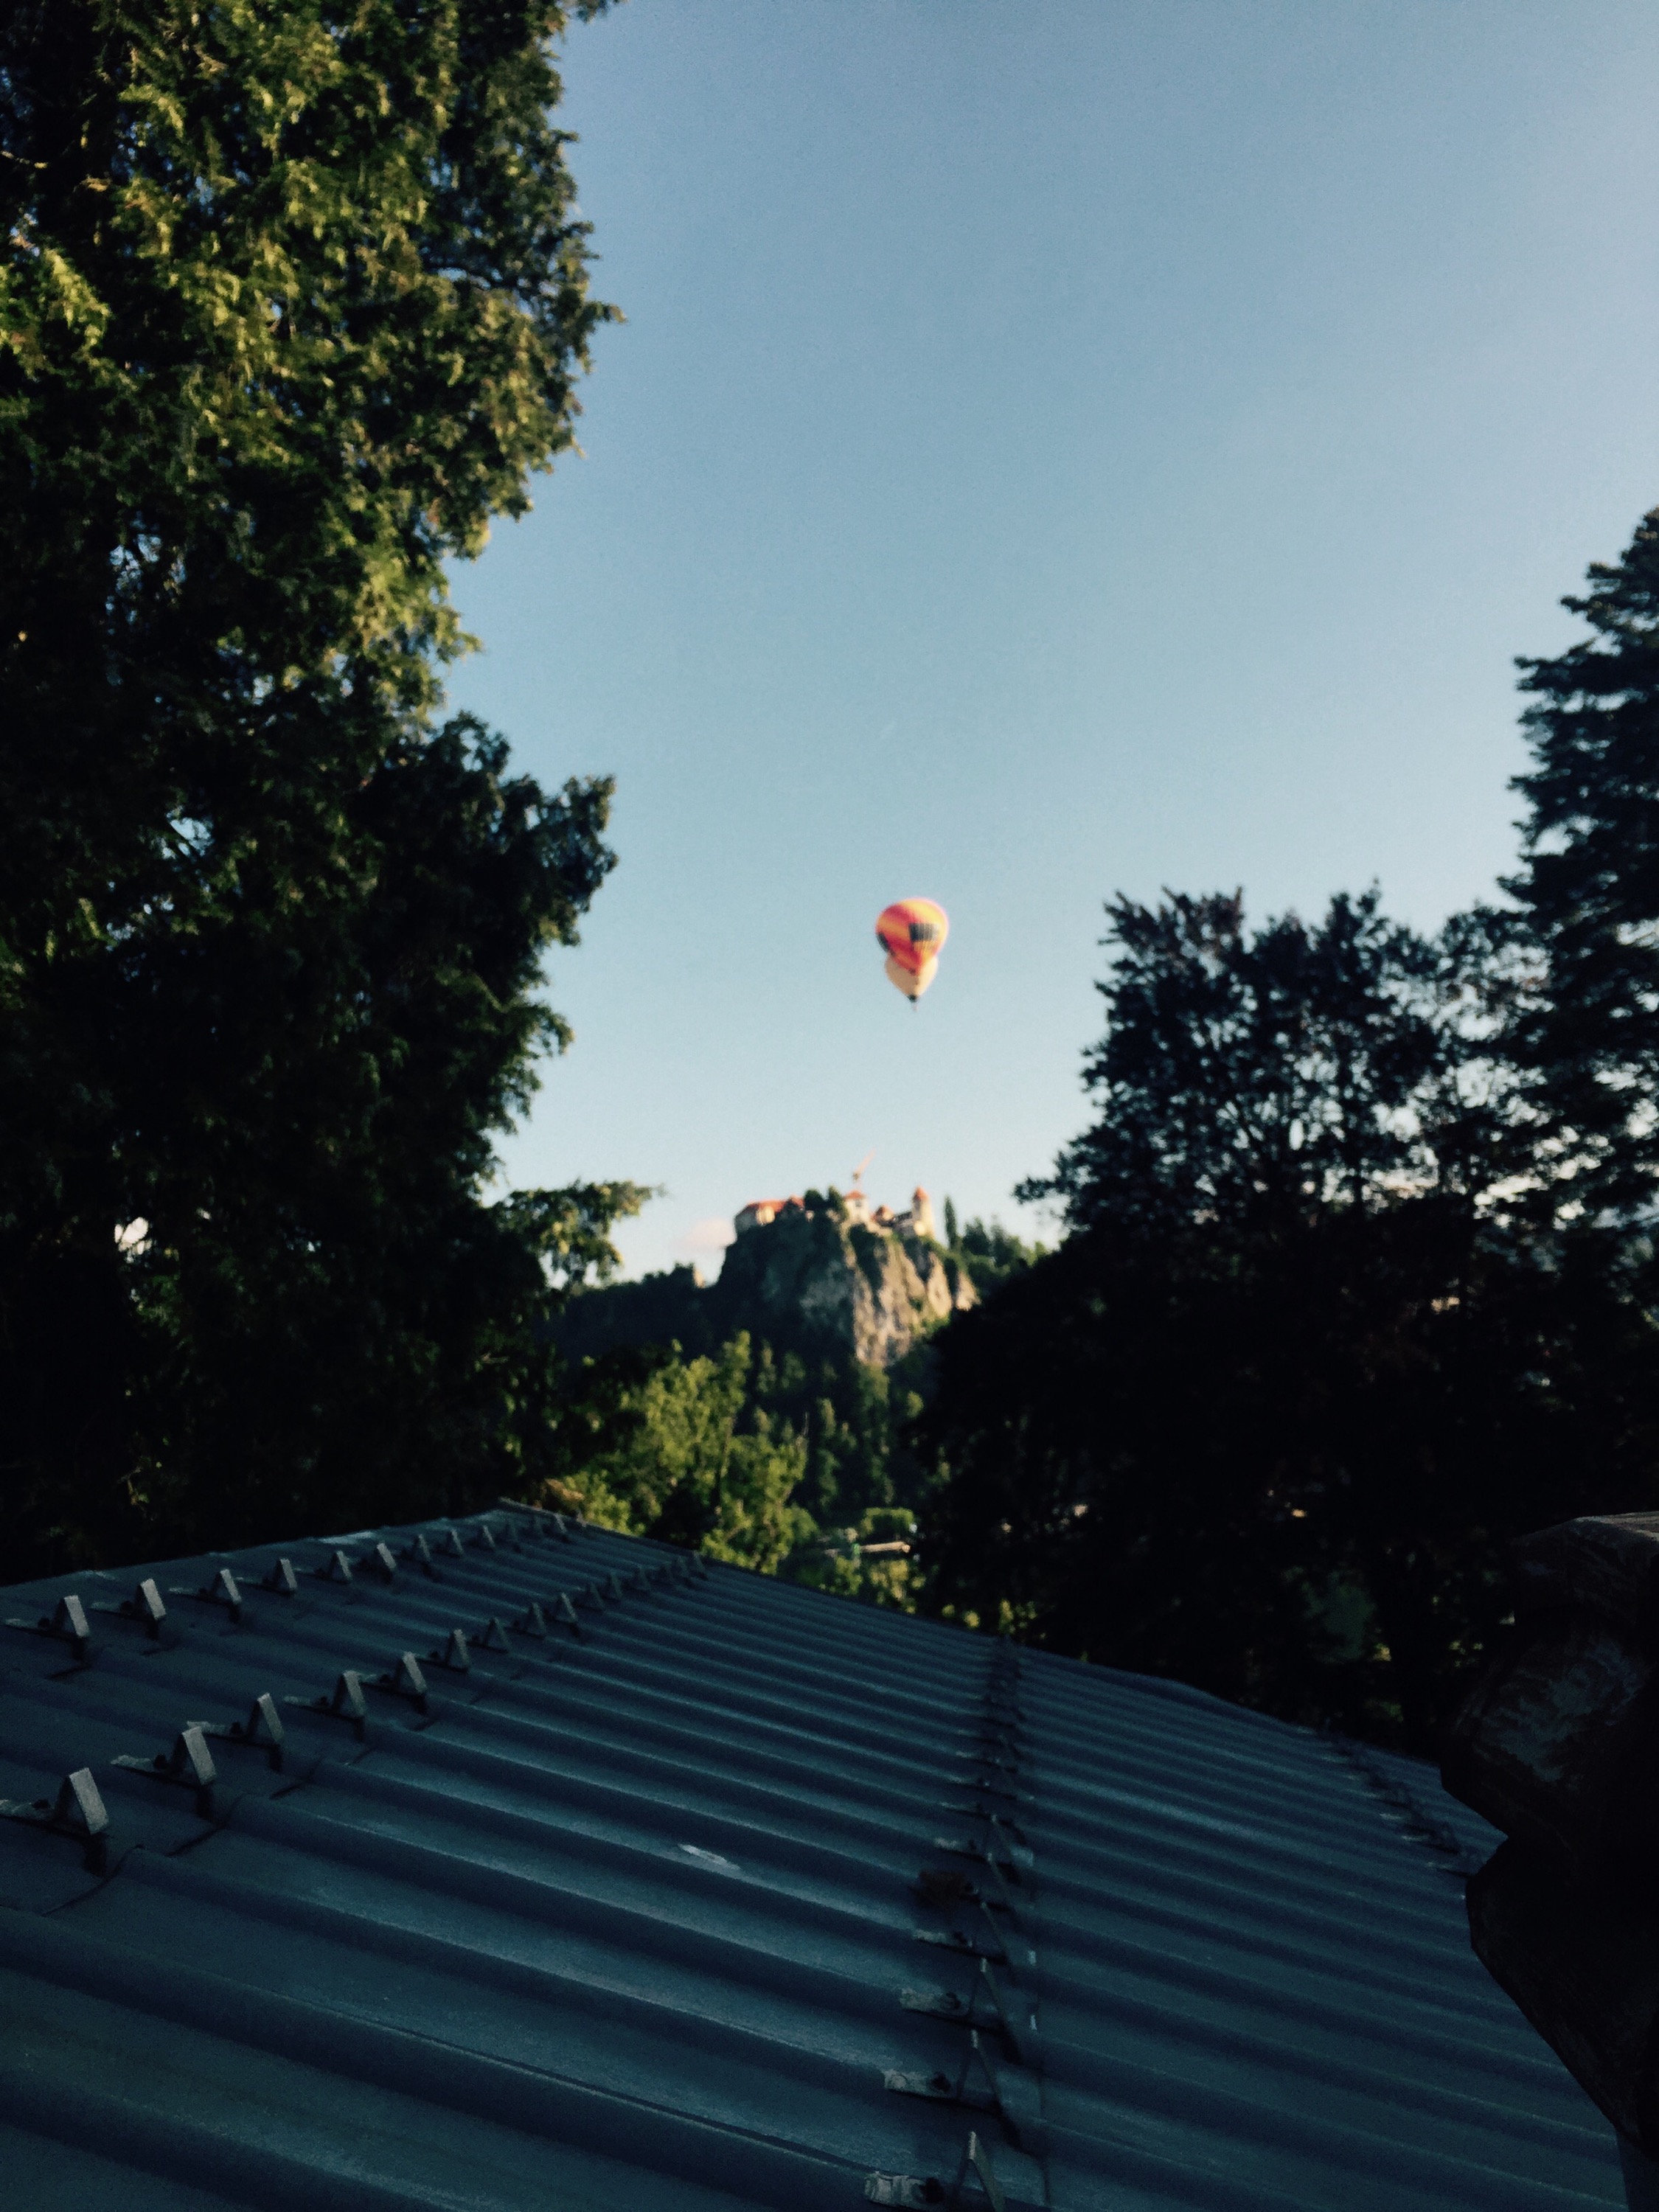
[[[635,1270],[872,1148],[1015,1223],[1113,891],[1511,863],[1513,655],[1659,502],[1659,9],[630,0],[566,62],[628,321],[451,695],[615,774],[622,865],[511,1179],[666,1186]]]

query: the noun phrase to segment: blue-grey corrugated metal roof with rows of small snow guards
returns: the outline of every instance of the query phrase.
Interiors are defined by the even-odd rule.
[[[526,1513],[288,1557],[0,1593],[7,2203],[1621,2203],[1413,1761]]]

